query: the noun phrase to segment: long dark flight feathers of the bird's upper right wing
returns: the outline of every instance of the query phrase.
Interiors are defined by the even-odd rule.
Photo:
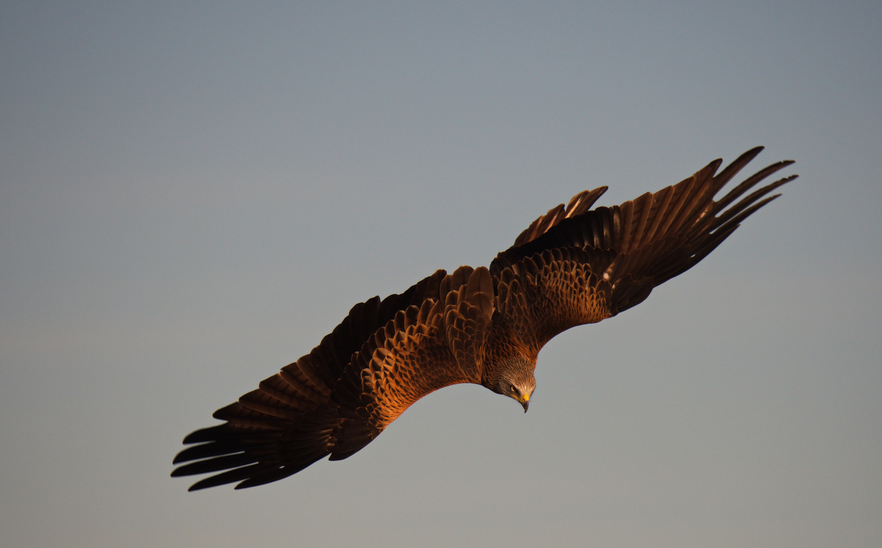
[[[761,151],[762,146],[747,151],[719,174],[716,171],[721,160],[712,161],[680,183],[647,192],[620,206],[602,206],[572,215],[554,215],[552,210],[525,231],[534,237],[519,238],[522,244],[497,255],[490,273],[501,276],[507,268],[523,268],[518,265],[546,251],[584,251],[587,258],[581,260],[586,261],[590,273],[609,282],[611,294],[603,293],[609,315],[627,310],[648,297],[655,286],[704,259],[741,221],[778,197],[766,195],[796,178],[784,177],[745,196],[767,176],[793,163],[779,161],[714,201],[721,188]],[[592,193],[604,190],[606,187],[601,187]],[[583,195],[585,192],[577,197]],[[539,229],[544,230],[539,233]],[[597,291],[603,290],[597,287]]]

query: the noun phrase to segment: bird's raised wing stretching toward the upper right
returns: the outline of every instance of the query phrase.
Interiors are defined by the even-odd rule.
[[[582,204],[606,190],[601,187],[577,194],[565,209],[549,210],[490,265],[505,321],[538,351],[569,327],[641,303],[655,286],[704,259],[741,221],[778,197],[767,194],[796,178],[784,177],[745,196],[793,163],[779,161],[714,200],[760,151],[761,146],[749,150],[719,174],[722,161],[712,161],[678,184],[621,206],[584,211]]]

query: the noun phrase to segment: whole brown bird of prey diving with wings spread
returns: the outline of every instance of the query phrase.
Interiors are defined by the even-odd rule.
[[[187,436],[183,443],[198,445],[175,463],[195,462],[172,476],[221,472],[191,491],[233,482],[240,489],[328,455],[345,459],[422,396],[462,382],[510,396],[526,411],[546,342],[639,304],[777,197],[766,194],[796,178],[744,196],[793,163],[779,161],[714,201],[761,150],[716,175],[721,160],[712,161],[621,206],[589,211],[606,187],[580,192],[530,224],[490,268],[438,270],[400,295],[355,304],[309,354],[214,412],[227,422]]]

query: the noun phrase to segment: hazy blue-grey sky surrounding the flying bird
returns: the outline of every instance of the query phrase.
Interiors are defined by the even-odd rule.
[[[0,544],[882,545],[880,52],[878,2],[4,2]],[[450,387],[168,477],[352,304],[756,145],[800,178],[550,342],[527,415]]]

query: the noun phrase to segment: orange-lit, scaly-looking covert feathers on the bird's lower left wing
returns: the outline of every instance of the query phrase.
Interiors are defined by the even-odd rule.
[[[332,460],[355,453],[423,396],[459,383],[480,384],[492,325],[493,285],[486,267],[460,266],[441,281],[438,300],[410,306],[365,342],[332,395],[352,407],[370,439],[337,443]]]

